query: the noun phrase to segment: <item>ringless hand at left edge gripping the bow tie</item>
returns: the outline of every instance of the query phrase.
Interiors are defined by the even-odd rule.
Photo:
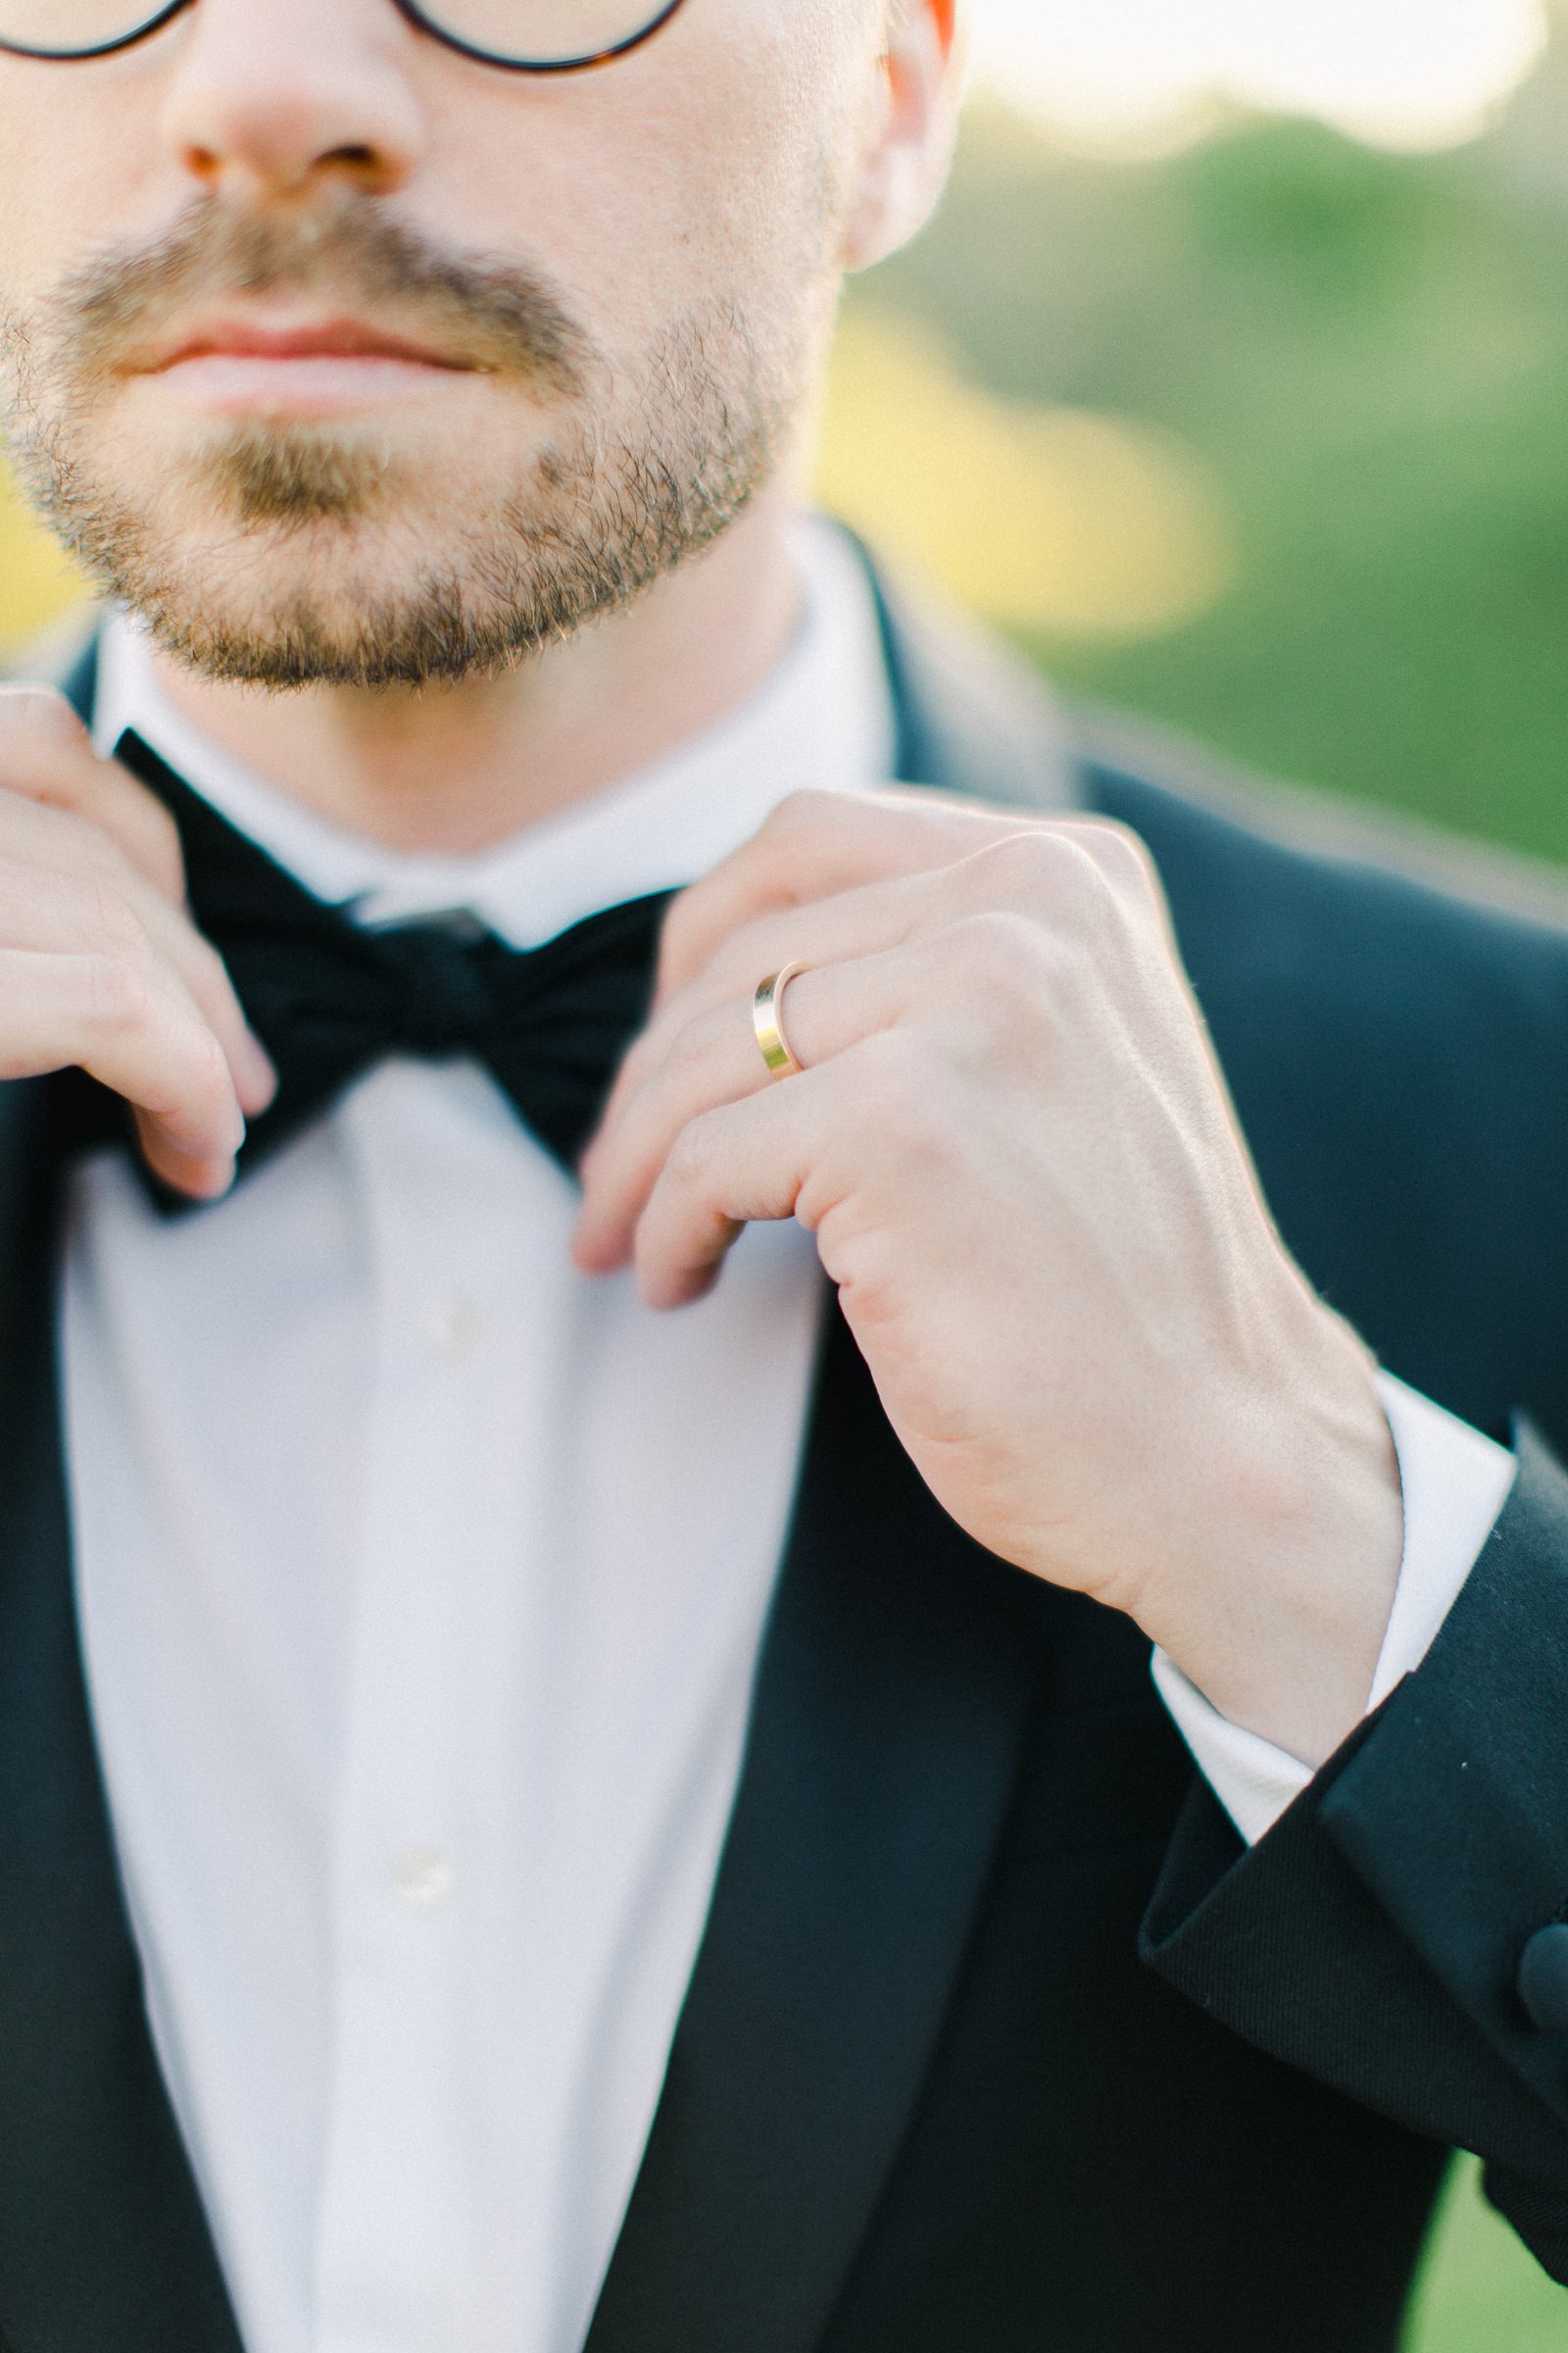
[[[80,1066],[136,1113],[165,1184],[233,1181],[275,1092],[193,927],[174,819],[49,687],[0,687],[0,1078]]]

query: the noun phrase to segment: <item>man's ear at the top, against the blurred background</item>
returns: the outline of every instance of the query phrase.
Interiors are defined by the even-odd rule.
[[[957,0],[891,0],[844,268],[865,271],[907,245],[936,207],[959,111]]]

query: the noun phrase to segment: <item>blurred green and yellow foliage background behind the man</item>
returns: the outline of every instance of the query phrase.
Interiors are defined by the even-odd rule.
[[[1568,861],[1561,16],[1441,153],[1232,113],[1088,155],[976,96],[851,289],[823,492],[1067,689]],[[0,480],[0,659],[78,595]],[[1568,2294],[1462,2165],[1408,2353],[1549,2348]]]

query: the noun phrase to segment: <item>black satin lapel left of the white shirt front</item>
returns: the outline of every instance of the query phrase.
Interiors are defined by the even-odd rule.
[[[169,2113],[75,1628],[47,1082],[0,1087],[0,2341],[240,2353]]]

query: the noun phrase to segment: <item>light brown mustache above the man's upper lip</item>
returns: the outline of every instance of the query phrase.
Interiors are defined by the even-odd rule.
[[[197,198],[162,235],[80,264],[56,287],[49,325],[75,381],[92,384],[113,379],[195,308],[284,292],[369,311],[378,325],[559,395],[581,393],[595,360],[545,271],[451,252],[362,195],[277,219]]]

